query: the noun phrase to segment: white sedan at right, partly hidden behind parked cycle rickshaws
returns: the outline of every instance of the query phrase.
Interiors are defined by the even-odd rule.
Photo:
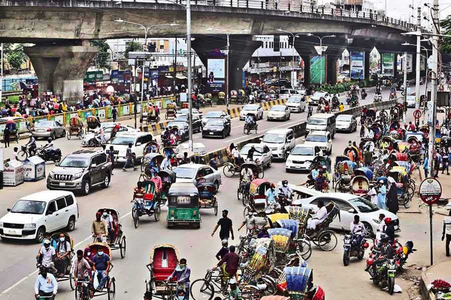
[[[328,192],[315,195],[312,197],[293,200],[292,205],[302,206],[317,210],[318,202],[322,200],[324,204],[334,202],[340,208],[340,218],[337,216],[330,227],[350,230],[351,222],[354,221],[354,215],[360,216],[360,221],[365,225],[365,229],[369,236],[374,235],[379,226],[379,214],[383,213],[386,217],[390,217],[395,230],[399,230],[399,219],[396,214],[388,210],[379,209],[376,205],[365,198],[357,195],[343,192]]]

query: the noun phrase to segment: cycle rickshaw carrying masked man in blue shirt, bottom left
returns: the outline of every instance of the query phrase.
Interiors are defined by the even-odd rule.
[[[114,267],[113,261],[113,253],[111,252],[110,246],[103,242],[93,242],[85,247],[84,257],[91,263],[94,256],[97,255],[97,251],[100,249],[103,250],[104,255],[108,255],[110,257],[110,268],[108,270],[107,279],[105,284],[102,286],[102,290],[94,289],[91,287],[91,282],[89,281],[80,281],[78,280],[75,288],[75,298],[76,299],[89,299],[90,296],[85,295],[85,290],[92,290],[92,297],[108,295],[108,300],[114,300],[116,296],[116,279],[110,275],[111,269]],[[96,275],[94,273],[93,277]],[[100,280],[99,280],[100,282]]]

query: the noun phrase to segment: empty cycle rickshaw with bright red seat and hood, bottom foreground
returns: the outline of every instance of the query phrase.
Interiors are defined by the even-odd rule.
[[[177,278],[166,281],[178,265],[180,255],[174,245],[157,244],[150,252],[150,261],[146,265],[150,277],[146,280],[146,292],[144,300],[152,300],[153,297],[162,300],[172,300],[177,289]]]

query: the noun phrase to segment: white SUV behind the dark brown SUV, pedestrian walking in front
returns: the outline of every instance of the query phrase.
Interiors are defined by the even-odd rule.
[[[142,157],[144,147],[146,143],[153,138],[151,133],[148,132],[124,132],[118,133],[116,136],[106,144],[106,149],[113,146],[116,162],[126,162],[128,144],[131,143],[131,151],[136,155],[136,160],[139,161]],[[135,162],[136,164],[136,162]]]

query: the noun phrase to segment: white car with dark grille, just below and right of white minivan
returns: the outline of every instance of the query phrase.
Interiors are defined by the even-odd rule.
[[[319,146],[305,143],[298,144],[288,155],[285,170],[287,172],[291,170],[310,170],[313,158],[317,155],[323,155],[323,150]]]

